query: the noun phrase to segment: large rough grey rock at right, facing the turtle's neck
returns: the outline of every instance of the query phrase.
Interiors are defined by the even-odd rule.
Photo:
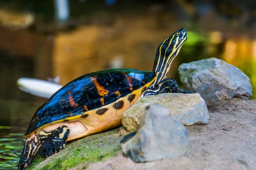
[[[185,88],[201,94],[205,101],[215,102],[233,97],[249,99],[253,94],[250,79],[238,68],[220,59],[182,64],[179,74]]]

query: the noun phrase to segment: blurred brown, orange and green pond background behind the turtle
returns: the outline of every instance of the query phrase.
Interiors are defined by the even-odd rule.
[[[106,68],[152,70],[160,42],[179,28],[181,63],[216,57],[243,71],[256,98],[255,0],[0,0],[0,169],[15,169],[22,137],[46,99],[20,91],[20,77],[60,84]]]

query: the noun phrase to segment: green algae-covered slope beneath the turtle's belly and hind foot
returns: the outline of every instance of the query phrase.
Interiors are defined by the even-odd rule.
[[[66,145],[64,150],[47,159],[38,154],[26,170],[66,170],[81,163],[104,161],[121,149],[119,128],[86,136]]]

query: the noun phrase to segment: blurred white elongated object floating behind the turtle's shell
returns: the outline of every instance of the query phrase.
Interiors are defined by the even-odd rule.
[[[52,94],[62,88],[62,85],[32,78],[20,78],[17,80],[17,85],[20,90],[26,93],[47,99],[49,99]]]

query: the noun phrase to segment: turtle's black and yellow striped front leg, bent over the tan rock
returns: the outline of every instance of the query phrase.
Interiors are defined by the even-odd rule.
[[[182,94],[192,94],[191,91],[187,91],[183,88],[180,88],[175,81],[175,79],[163,79],[159,84],[154,88],[148,88],[143,94],[142,97],[157,95],[161,93],[182,93]]]

